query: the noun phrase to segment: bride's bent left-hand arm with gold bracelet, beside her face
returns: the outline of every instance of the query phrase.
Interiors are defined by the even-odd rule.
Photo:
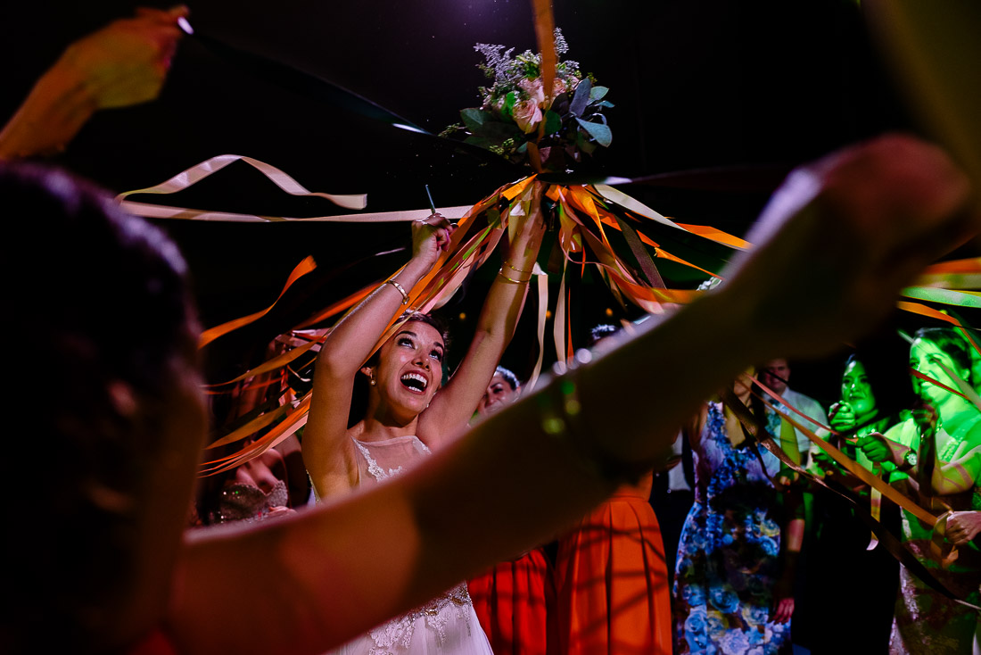
[[[317,355],[303,462],[320,498],[354,486],[356,470],[345,438],[354,379],[404,303],[402,294],[433,269],[453,230],[439,214],[413,221],[412,258],[389,278],[393,284],[380,286],[336,324]]]

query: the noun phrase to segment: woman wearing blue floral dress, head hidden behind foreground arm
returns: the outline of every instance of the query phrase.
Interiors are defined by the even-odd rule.
[[[754,373],[750,367],[737,378],[733,402],[765,424],[762,403],[752,397]],[[780,461],[754,445],[736,410],[721,402],[702,407],[685,436],[695,454],[696,492],[678,546],[675,652],[782,652],[791,644],[804,521],[785,500],[790,494],[775,487]],[[800,461],[793,432],[769,436]]]

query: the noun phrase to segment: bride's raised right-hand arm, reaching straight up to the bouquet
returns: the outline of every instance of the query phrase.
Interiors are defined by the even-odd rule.
[[[420,417],[420,438],[430,447],[439,448],[448,436],[466,426],[514,335],[542,246],[542,191],[543,185],[538,182],[529,190],[528,215],[521,220],[513,242],[501,258],[501,271],[490,285],[467,354]]]

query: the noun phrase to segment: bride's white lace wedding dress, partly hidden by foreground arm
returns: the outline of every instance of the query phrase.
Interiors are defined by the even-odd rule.
[[[415,436],[352,441],[362,487],[378,484],[430,455]],[[461,582],[426,605],[348,641],[332,655],[492,655],[492,651],[466,582]]]

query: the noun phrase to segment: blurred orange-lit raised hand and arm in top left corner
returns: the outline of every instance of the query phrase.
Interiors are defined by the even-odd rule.
[[[0,132],[0,160],[55,154],[96,110],[156,98],[186,15],[143,8],[72,43]]]

